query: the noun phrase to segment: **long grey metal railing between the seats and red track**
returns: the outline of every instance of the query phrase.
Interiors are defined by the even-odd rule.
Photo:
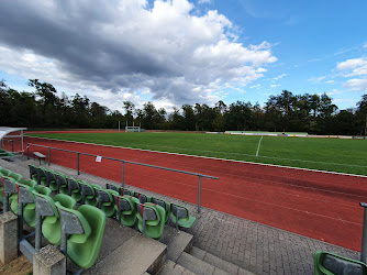
[[[40,144],[26,143],[26,157],[27,157],[27,160],[30,160],[30,145],[48,148],[48,157],[47,157],[48,166],[51,164],[51,150],[57,150],[57,151],[63,151],[63,152],[77,154],[77,157],[78,157],[78,175],[80,175],[80,155],[87,155],[87,156],[93,156],[93,157],[99,156],[99,155],[94,155],[94,154],[81,153],[81,152],[76,152],[76,151],[70,151],[70,150],[65,150],[65,148],[57,148],[57,147],[44,146],[44,145],[40,145]],[[108,157],[108,156],[100,156],[100,157],[122,163],[122,185],[121,185],[122,187],[124,187],[125,163],[146,166],[146,167],[156,168],[156,169],[163,169],[163,170],[169,170],[169,172],[176,172],[176,173],[198,176],[199,177],[199,194],[198,194],[198,212],[199,213],[201,212],[201,178],[219,179],[219,177],[213,177],[213,176],[209,176],[209,175],[204,175],[204,174],[200,174],[200,173],[173,169],[173,168],[167,168],[167,167],[163,167],[163,166],[156,166],[156,165],[151,165],[151,164],[145,164],[145,163],[131,162],[131,161],[125,161],[125,160]]]

